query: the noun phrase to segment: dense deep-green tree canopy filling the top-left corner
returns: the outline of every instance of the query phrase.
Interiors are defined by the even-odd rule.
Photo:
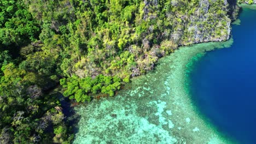
[[[36,40],[39,34],[38,23],[21,0],[0,2],[0,43],[26,44]]]

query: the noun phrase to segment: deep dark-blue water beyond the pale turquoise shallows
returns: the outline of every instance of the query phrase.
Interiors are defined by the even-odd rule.
[[[207,52],[195,64],[191,94],[218,130],[240,143],[256,143],[256,10],[243,9],[232,25],[230,48]]]

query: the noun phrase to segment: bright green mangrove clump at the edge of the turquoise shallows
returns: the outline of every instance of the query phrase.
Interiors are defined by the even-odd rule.
[[[104,76],[97,75],[95,79],[85,77],[79,79],[78,76],[73,75],[67,79],[61,79],[60,84],[66,90],[63,93],[65,97],[74,99],[77,102],[90,101],[90,93],[105,93],[113,96],[114,92],[120,89],[121,79],[118,76]]]

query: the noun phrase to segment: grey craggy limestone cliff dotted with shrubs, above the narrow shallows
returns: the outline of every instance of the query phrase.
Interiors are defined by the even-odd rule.
[[[228,40],[231,19],[227,13],[219,14],[211,9],[217,2],[201,0],[194,14],[181,16],[184,27],[174,31],[171,38],[179,45]],[[222,4],[223,11],[228,11],[228,1]]]

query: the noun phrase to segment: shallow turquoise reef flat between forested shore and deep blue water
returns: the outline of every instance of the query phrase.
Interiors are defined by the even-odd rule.
[[[74,143],[231,143],[201,116],[187,91],[193,63],[226,42],[180,47],[113,98],[76,107]]]

